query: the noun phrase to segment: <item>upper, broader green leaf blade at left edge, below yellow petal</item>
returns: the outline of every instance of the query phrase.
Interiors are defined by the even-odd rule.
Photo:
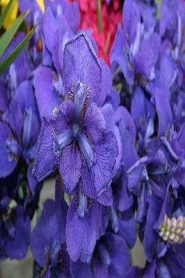
[[[1,36],[1,38],[0,38],[0,57],[3,55],[4,51],[6,51],[8,44],[13,39],[13,36],[17,32],[19,26],[22,24],[22,22],[24,21],[24,18],[26,17],[26,15],[28,15],[28,13],[29,12],[26,11],[22,15],[19,15],[19,17],[17,17],[17,19],[15,20],[13,25],[10,27],[10,29],[8,29],[8,31],[3,33],[3,35]]]

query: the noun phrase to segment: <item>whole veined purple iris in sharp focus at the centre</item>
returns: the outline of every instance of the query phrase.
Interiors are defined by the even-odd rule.
[[[110,186],[118,143],[96,104],[102,68],[84,34],[64,49],[63,82],[67,99],[44,117],[35,154],[33,174],[38,181],[59,167],[63,185],[72,194],[80,177],[83,193],[99,197]]]

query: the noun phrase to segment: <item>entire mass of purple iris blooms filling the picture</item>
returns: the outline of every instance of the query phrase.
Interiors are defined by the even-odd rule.
[[[33,277],[184,277],[184,1],[124,1],[111,68],[76,2],[19,9],[38,28],[0,80],[1,259],[31,245]]]

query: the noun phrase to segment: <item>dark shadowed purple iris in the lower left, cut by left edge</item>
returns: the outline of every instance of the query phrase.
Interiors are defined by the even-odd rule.
[[[21,205],[15,201],[19,188],[16,170],[0,179],[0,258],[23,259],[30,237],[30,220]]]

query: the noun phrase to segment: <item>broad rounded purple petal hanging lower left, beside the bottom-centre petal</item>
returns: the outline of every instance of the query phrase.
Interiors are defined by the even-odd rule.
[[[42,215],[31,234],[31,252],[42,267],[47,265],[47,256],[65,244],[65,222],[67,206],[48,199]],[[53,250],[52,250],[53,249]],[[52,262],[54,263],[54,262]]]

